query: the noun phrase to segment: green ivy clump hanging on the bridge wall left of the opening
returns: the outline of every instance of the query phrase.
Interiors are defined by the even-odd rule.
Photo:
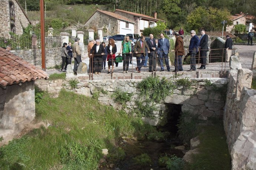
[[[176,86],[167,78],[149,76],[137,84],[138,98],[135,112],[140,116],[152,117],[156,105],[163,102],[167,95],[173,93]]]

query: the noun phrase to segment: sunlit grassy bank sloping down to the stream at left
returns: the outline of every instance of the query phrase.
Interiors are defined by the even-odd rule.
[[[44,94],[36,103],[36,120],[46,121],[50,126],[33,129],[0,147],[1,170],[95,170],[102,157],[101,149],[107,148],[111,155],[120,157],[116,152],[120,137],[142,137],[156,132],[140,118],[64,90],[58,98]]]

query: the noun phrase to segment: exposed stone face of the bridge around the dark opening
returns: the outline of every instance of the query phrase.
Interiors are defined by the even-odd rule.
[[[79,80],[79,79],[78,79]],[[176,79],[172,79],[174,82]],[[223,107],[224,107],[224,96],[220,93],[218,89],[225,88],[227,84],[226,78],[210,78],[208,79],[213,86],[207,86],[204,78],[193,79],[194,84],[191,89],[184,86],[178,86],[174,90],[174,94],[167,96],[162,105],[158,105],[158,111],[154,112],[155,118],[144,118],[144,120],[151,125],[162,125],[166,121],[165,106],[164,103],[173,103],[177,105],[182,105],[182,111],[191,112],[193,114],[200,115],[201,119],[206,120],[207,118],[222,117]],[[37,80],[36,85],[45,91],[50,93],[58,93],[61,89],[66,89],[68,91],[73,91],[86,96],[92,96],[94,93],[98,93],[102,90],[106,91],[108,94],[99,93],[98,100],[106,105],[114,106],[116,109],[121,109],[122,106],[115,103],[111,98],[111,94],[116,91],[116,89],[121,89],[128,93],[133,93],[132,100],[124,108],[127,112],[135,107],[135,99],[137,96],[137,83],[141,80],[127,79],[127,80],[79,80],[77,88],[72,89],[69,82],[66,80],[54,80],[45,81]]]

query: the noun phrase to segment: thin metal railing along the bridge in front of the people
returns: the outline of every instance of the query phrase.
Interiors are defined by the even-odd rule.
[[[209,58],[209,63],[206,64],[207,65],[206,69],[202,69],[201,71],[207,70],[207,67],[208,67],[211,70],[218,70],[218,71],[220,71],[220,76],[222,77],[222,75],[224,74],[224,72],[228,68],[227,67],[227,62],[226,62],[226,52],[225,51],[226,51],[226,49],[224,49],[224,48],[211,49],[210,52],[209,52],[209,57],[208,57]],[[152,62],[150,62],[150,63],[152,63],[152,72],[159,72],[161,70],[160,63],[159,63],[160,55],[157,54],[157,53],[160,53],[160,52],[164,52],[164,51],[154,52],[153,55],[156,55],[156,59],[154,59],[154,57],[152,59],[148,58],[148,61],[150,61],[150,60],[152,61]],[[173,52],[175,54],[175,52],[177,52],[177,51],[169,51],[169,53],[170,52]],[[203,58],[202,56],[200,56],[200,52],[201,52],[201,50],[199,50],[197,52],[196,57],[195,57],[196,58],[195,66],[196,66],[197,71],[200,71],[200,69],[198,69],[198,68],[200,68],[200,66],[201,66],[201,59]],[[189,51],[185,51],[185,54],[188,54],[188,53],[189,53]],[[235,53],[235,49],[233,49],[231,55],[233,55],[234,53]],[[117,55],[118,54],[116,54],[116,56]],[[178,71],[178,69],[177,69],[178,67],[181,66],[184,71],[187,71],[190,68],[189,67],[190,66],[190,56],[189,55],[183,55],[183,57],[181,58],[181,60],[182,60],[181,64],[180,63],[177,63],[177,64],[174,63],[175,60],[178,59],[177,55],[176,56],[175,55],[171,55],[171,56],[173,56],[173,57],[171,57],[171,58],[168,57],[169,66],[171,67],[170,71],[174,72],[174,70],[176,70],[175,74],[181,74],[181,72]],[[207,57],[205,57],[205,58],[207,58]],[[97,60],[97,61],[95,61],[95,60]],[[127,60],[123,60],[122,62],[118,63],[118,65],[119,65],[118,71],[115,71],[115,64],[114,64],[113,66],[110,66],[110,71],[107,70],[106,73],[104,71],[104,73],[101,73],[101,74],[107,74],[108,72],[110,72],[109,74],[111,76],[113,76],[113,74],[116,73],[116,72],[122,73],[123,71],[126,71],[126,68],[125,68],[126,66],[124,66],[124,64],[123,64],[124,61],[126,61],[126,63],[129,63],[129,66],[128,66],[129,67],[129,73],[132,74],[132,73],[138,72],[137,69],[136,69],[137,66],[135,66],[134,63],[137,63],[137,61],[138,61],[138,63],[140,63],[141,62],[141,58],[140,57],[136,57],[136,54],[132,53],[132,57],[131,58],[129,58]],[[164,59],[163,59],[163,61],[164,61]],[[103,68],[103,66],[102,66],[103,62],[104,62],[104,60],[103,60],[103,56],[102,55],[98,55],[98,56],[97,55],[93,55],[93,57],[91,59],[91,62],[89,64],[90,65],[89,67],[92,68],[92,69],[89,69],[89,76],[90,76],[89,78],[90,79],[93,79],[93,74],[95,74],[95,72],[101,72],[101,70]],[[105,62],[106,62],[106,66],[108,66],[108,61],[105,61]],[[132,63],[132,64],[130,64],[130,63]],[[120,64],[122,64],[123,67],[120,67]],[[156,65],[155,69],[153,68],[154,64]],[[95,65],[98,66],[98,67],[96,67]],[[112,67],[114,67],[114,72],[112,72]],[[121,68],[123,68],[123,69],[120,71]],[[106,69],[108,69],[108,68],[106,68]],[[187,69],[187,70],[185,70],[185,69]],[[164,70],[167,71],[165,63],[164,63]],[[147,69],[147,71],[145,71],[144,69],[141,70],[141,72],[148,72],[148,71],[149,71],[148,69]]]

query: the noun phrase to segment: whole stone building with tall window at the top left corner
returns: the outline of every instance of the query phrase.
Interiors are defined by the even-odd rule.
[[[10,38],[10,31],[22,35],[23,28],[31,24],[18,0],[0,1],[0,20],[0,37],[7,39]]]

